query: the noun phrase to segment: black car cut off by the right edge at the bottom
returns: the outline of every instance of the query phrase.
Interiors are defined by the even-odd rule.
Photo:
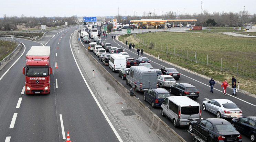
[[[249,136],[252,142],[256,141],[256,116],[233,118],[231,124],[237,131]]]

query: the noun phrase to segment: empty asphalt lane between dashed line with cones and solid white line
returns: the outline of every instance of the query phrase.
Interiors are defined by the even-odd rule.
[[[61,48],[56,50],[54,59],[58,65],[58,69],[54,68],[53,80],[57,79],[58,84],[58,88],[55,88],[58,121],[62,115],[65,134],[69,131],[73,141],[118,141],[79,73],[71,48],[66,46],[69,41],[69,35],[61,38],[58,44]],[[51,46],[56,47],[55,44],[53,42]],[[60,122],[58,124],[61,130]],[[59,134],[63,139],[61,131]]]

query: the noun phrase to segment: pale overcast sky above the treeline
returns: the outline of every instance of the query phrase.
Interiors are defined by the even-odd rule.
[[[26,17],[69,17],[83,16],[141,16],[145,11],[155,12],[157,15],[173,11],[178,15],[201,13],[202,10],[213,12],[248,11],[256,13],[256,1],[241,0],[1,0],[0,17],[22,14]]]

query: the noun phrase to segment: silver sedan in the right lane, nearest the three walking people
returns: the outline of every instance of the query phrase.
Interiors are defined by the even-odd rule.
[[[205,100],[202,103],[202,109],[216,114],[217,118],[234,118],[243,116],[242,110],[228,99]]]

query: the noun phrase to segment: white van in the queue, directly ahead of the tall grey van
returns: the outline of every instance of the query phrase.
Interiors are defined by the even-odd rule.
[[[121,68],[126,68],[126,58],[121,54],[111,54],[108,62],[109,68],[112,71],[119,71]]]

